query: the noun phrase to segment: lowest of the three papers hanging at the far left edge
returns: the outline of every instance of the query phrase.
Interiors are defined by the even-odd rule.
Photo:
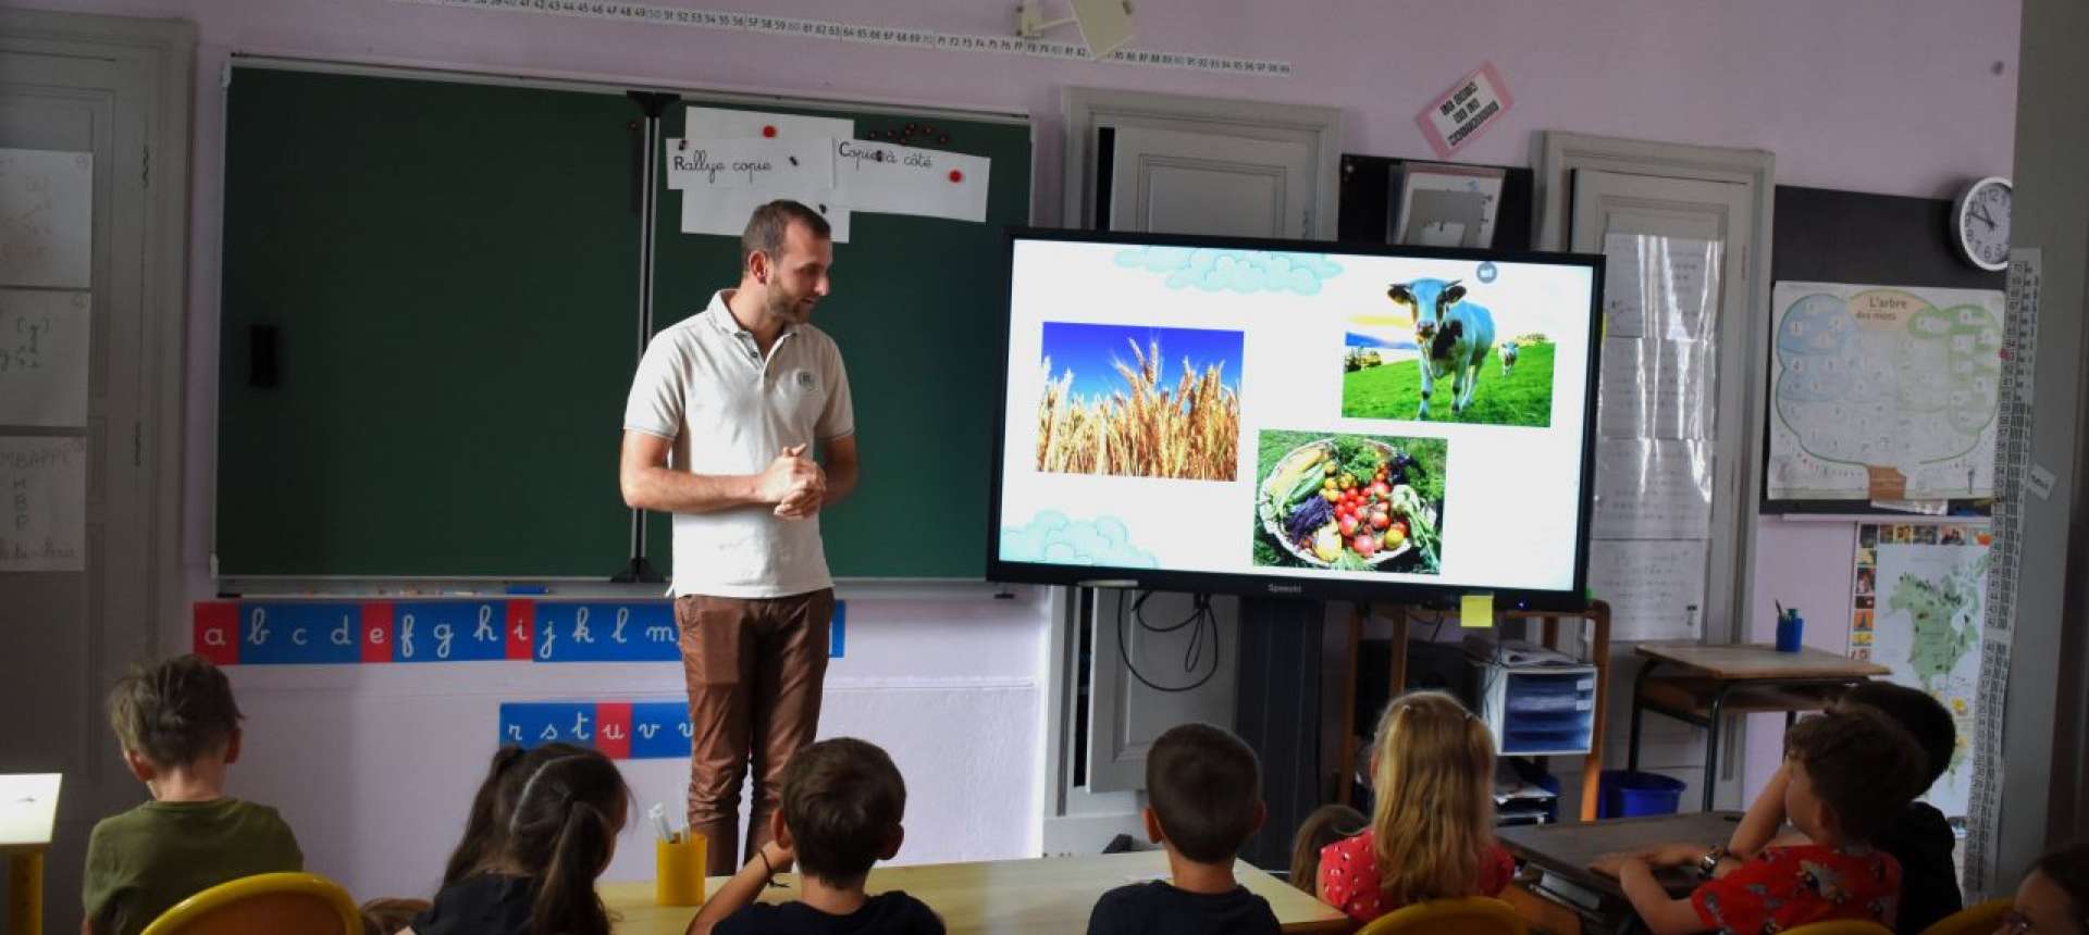
[[[86,438],[0,438],[0,572],[86,570]]]

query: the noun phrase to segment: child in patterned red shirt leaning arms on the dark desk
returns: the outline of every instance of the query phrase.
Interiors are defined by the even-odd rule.
[[[1893,925],[1901,864],[1872,841],[1924,789],[1918,787],[1928,774],[1922,749],[1907,730],[1863,705],[1801,720],[1784,745],[1784,816],[1809,843],[1769,845],[1738,864],[1711,854],[1719,862],[1715,879],[1684,900],[1669,897],[1652,866],[1690,862],[1688,845],[1596,864],[1619,877],[1648,931],[1755,935],[1836,918]],[[1759,812],[1748,812],[1736,839],[1769,839]]]

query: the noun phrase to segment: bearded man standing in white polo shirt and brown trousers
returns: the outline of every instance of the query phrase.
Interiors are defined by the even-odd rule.
[[[754,209],[740,288],[654,336],[625,407],[625,503],[675,513],[689,829],[706,835],[712,868],[744,860],[750,760],[748,856],[769,841],[783,764],[819,728],[834,618],[819,509],[856,486],[848,374],[834,338],[808,323],[831,265],[819,213],[794,200]]]

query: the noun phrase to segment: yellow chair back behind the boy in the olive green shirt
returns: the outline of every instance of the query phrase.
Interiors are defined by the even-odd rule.
[[[142,935],[361,935],[347,889],[309,872],[261,872],[219,883],[161,912]]]

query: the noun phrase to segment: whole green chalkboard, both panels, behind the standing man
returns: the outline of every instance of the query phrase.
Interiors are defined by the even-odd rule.
[[[710,104],[719,106],[719,104]],[[854,117],[859,134],[913,117]],[[618,88],[234,69],[228,90],[217,536],[226,576],[610,576],[616,445],[656,328],[735,280],[733,238],[643,257],[641,113]],[[681,131],[681,109],[664,115]],[[850,578],[984,572],[1005,315],[1001,225],[1030,129],[936,121],[994,159],[988,223],[856,215],[817,323],[842,346],[865,482],[823,518]],[[668,524],[648,551],[666,572]]]

